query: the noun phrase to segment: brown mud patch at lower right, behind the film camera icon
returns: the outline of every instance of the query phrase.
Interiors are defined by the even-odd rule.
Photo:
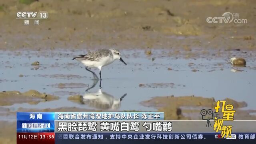
[[[256,110],[241,110],[247,106],[246,102],[236,102],[230,98],[224,99],[226,104],[232,104],[236,110],[235,120],[256,120]],[[214,98],[203,98],[198,96],[159,96],[150,100],[140,102],[143,106],[155,107],[159,112],[164,112],[166,120],[201,120],[202,109],[212,109],[216,106]],[[221,109],[221,108],[220,108]],[[215,110],[214,110],[215,111]]]

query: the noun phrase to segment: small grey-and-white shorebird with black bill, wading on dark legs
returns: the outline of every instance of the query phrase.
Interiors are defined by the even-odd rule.
[[[91,72],[94,76],[94,79],[99,79],[95,72],[89,70],[89,67],[96,67],[100,70],[100,86],[101,86],[101,68],[103,66],[107,66],[114,62],[114,60],[120,60],[125,65],[126,63],[121,58],[121,52],[116,49],[100,49],[93,52],[89,52],[88,54],[78,55],[73,58],[73,60],[79,60],[85,65],[85,69]]]

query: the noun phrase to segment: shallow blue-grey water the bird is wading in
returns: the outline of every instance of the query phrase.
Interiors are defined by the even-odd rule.
[[[199,58],[169,56],[170,52],[154,50],[151,56],[147,56],[142,50],[123,50],[122,58],[127,65],[116,60],[111,65],[103,67],[101,90],[108,94],[108,98],[103,99],[105,101],[119,100],[127,93],[120,106],[107,110],[155,110],[141,106],[140,102],[154,96],[170,95],[214,97],[215,100],[232,98],[247,102],[248,109],[256,109],[254,104],[256,100],[254,94],[256,87],[255,52],[223,52],[223,55],[227,53],[228,56],[214,56],[211,54],[216,52],[210,52],[210,54],[199,56]],[[14,104],[5,107],[11,110],[17,110],[19,107],[59,108],[63,106],[95,109],[89,104],[75,103],[67,98],[75,94],[85,95],[98,92],[99,82],[88,92],[86,92],[87,86],[79,84],[77,87],[58,87],[60,83],[82,83],[88,84],[89,87],[92,86],[94,82],[92,74],[86,71],[80,62],[71,60],[73,56],[83,53],[86,51],[1,51],[1,91],[25,92],[34,89],[60,96],[57,101],[41,102],[36,105]],[[228,57],[238,54],[246,58],[247,67],[234,68],[229,63]],[[152,61],[152,58],[155,60]],[[40,66],[31,66],[35,61],[40,62]],[[172,68],[172,70],[168,70],[168,68]],[[232,69],[241,70],[241,72],[231,72]],[[98,74],[98,70],[94,71]],[[20,74],[23,77],[19,76]],[[173,83],[174,85],[165,86],[165,84],[158,85],[158,83]],[[139,84],[156,84],[157,87],[139,87]]]

